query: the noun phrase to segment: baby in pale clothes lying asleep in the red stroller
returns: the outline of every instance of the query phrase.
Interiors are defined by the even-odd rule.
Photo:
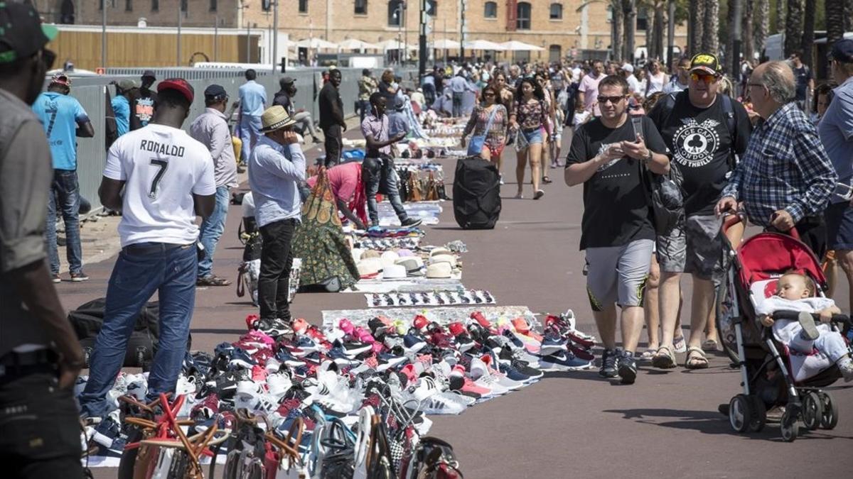
[[[853,361],[847,344],[840,333],[833,331],[827,323],[841,310],[828,297],[813,297],[815,283],[808,276],[794,272],[783,274],[775,296],[766,298],[756,307],[756,313],[764,326],[773,326],[773,335],[780,343],[799,353],[807,354],[817,349],[827,355],[838,366],[844,381],[853,380]],[[800,311],[798,320],[774,320],[775,311]],[[812,314],[821,318],[815,325]]]

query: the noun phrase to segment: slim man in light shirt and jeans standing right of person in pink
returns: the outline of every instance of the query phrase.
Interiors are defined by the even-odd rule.
[[[362,135],[367,142],[367,152],[362,164],[364,188],[368,202],[370,226],[379,226],[379,206],[376,194],[382,193],[388,197],[397,218],[403,227],[415,227],[421,224],[420,219],[409,217],[403,208],[400,192],[397,189],[397,172],[394,170],[393,150],[391,145],[403,140],[404,133],[388,138],[388,115],[386,99],[380,92],[370,95],[371,112],[362,122]]]

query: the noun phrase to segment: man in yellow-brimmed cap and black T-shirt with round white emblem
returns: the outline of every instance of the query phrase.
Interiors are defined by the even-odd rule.
[[[654,366],[664,368],[676,366],[672,341],[682,273],[693,275],[693,309],[685,366],[708,366],[702,350],[702,334],[707,326],[708,347],[711,340],[717,340],[713,326],[714,283],[723,273],[722,219],[714,215],[714,206],[728,182],[734,155],[746,152],[751,132],[746,109],[717,93],[717,81],[722,78],[717,57],[695,55],[689,68],[688,89],[664,97],[649,113],[672,152],[672,167],[682,173],[685,196],[684,220],[670,234],[658,238],[662,338],[652,361]]]

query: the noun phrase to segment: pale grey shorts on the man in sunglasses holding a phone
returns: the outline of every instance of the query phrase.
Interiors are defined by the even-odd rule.
[[[633,240],[627,245],[587,248],[587,294],[593,311],[617,303],[622,308],[642,306],[653,240]]]

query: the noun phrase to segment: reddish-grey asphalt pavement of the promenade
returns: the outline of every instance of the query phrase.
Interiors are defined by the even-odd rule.
[[[348,136],[356,137],[350,130]],[[566,138],[566,141],[567,138]],[[581,187],[568,188],[562,170],[551,170],[554,183],[543,199],[513,199],[514,153],[505,153],[501,221],[494,230],[463,231],[456,226],[450,201],[436,226],[425,228],[427,244],[462,240],[463,282],[491,291],[501,305],[525,305],[534,312],[573,309],[579,329],[597,334],[578,251],[583,212]],[[567,145],[563,148],[567,151]],[[310,151],[310,158],[317,150]],[[455,160],[441,159],[448,193]],[[530,181],[530,171],[526,174]],[[245,186],[245,185],[244,185]],[[230,206],[228,223],[215,258],[216,274],[236,280],[242,246],[237,240],[240,206]],[[67,309],[105,294],[115,257],[86,266],[91,280],[57,285]],[[690,280],[685,289],[689,324]],[[847,306],[846,281],[837,301]],[[322,309],[366,308],[363,295],[299,293],[293,314],[320,324]],[[193,347],[212,351],[246,331],[251,303],[235,295],[235,286],[200,288],[192,322]],[[643,339],[646,340],[645,332]],[[641,346],[644,345],[641,344]],[[683,365],[684,355],[677,355]],[[845,457],[853,447],[853,391],[838,382],[832,392],[840,410],[835,430],[804,432],[793,443],[780,439],[777,425],[761,433],[738,435],[717,413],[720,403],[740,392],[740,374],[728,359],[711,355],[708,369],[668,371],[640,363],[636,384],[599,378],[589,372],[550,373],[530,387],[470,407],[459,416],[433,416],[430,435],[454,446],[467,478],[491,477],[789,477],[845,476]],[[96,469],[96,477],[116,470]]]

